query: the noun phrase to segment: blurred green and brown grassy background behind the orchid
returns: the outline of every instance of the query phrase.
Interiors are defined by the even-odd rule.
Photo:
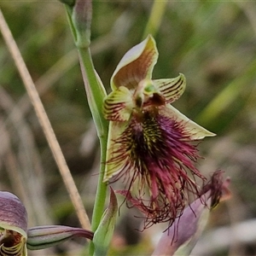
[[[232,198],[212,212],[195,255],[255,255],[256,3],[93,2],[91,51],[107,90],[120,58],[151,32],[160,52],[154,79],[184,73],[187,89],[174,106],[218,134],[200,144],[205,159],[198,168],[207,177],[217,169],[224,170],[232,179]],[[0,7],[91,213],[99,144],[65,9],[55,0],[2,1]],[[149,17],[152,24],[148,24]],[[2,38],[0,65],[0,189],[20,197],[30,226],[79,226]],[[125,217],[120,218],[110,254],[150,255],[160,230],[135,230],[139,219],[123,211]],[[83,242],[29,253],[76,255]]]

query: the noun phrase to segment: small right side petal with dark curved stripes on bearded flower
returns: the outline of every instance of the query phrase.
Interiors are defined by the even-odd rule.
[[[160,90],[160,93],[165,96],[166,103],[175,102],[183,95],[186,89],[186,79],[182,73],[175,79],[153,80],[153,84]]]

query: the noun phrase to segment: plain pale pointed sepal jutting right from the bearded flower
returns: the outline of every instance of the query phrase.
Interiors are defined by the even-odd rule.
[[[207,129],[201,127],[201,125],[197,125],[194,121],[187,118],[183,113],[180,113],[170,104],[166,105],[166,108],[162,108],[160,113],[175,119],[177,122],[182,122],[184,125],[184,131],[189,134],[191,140],[200,140],[204,137],[215,136],[214,133],[207,131]]]

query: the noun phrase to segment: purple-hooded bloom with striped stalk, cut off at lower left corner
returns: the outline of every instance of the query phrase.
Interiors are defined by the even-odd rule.
[[[27,256],[27,248],[39,250],[67,241],[73,236],[93,239],[90,230],[61,225],[27,229],[26,208],[20,199],[0,191],[0,256]]]

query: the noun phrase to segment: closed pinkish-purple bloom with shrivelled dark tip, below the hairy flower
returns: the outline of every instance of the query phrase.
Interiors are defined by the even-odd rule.
[[[163,232],[152,256],[190,255],[205,229],[209,213],[220,201],[230,199],[230,177],[216,171],[201,189],[200,198],[193,201],[171,227]]]

